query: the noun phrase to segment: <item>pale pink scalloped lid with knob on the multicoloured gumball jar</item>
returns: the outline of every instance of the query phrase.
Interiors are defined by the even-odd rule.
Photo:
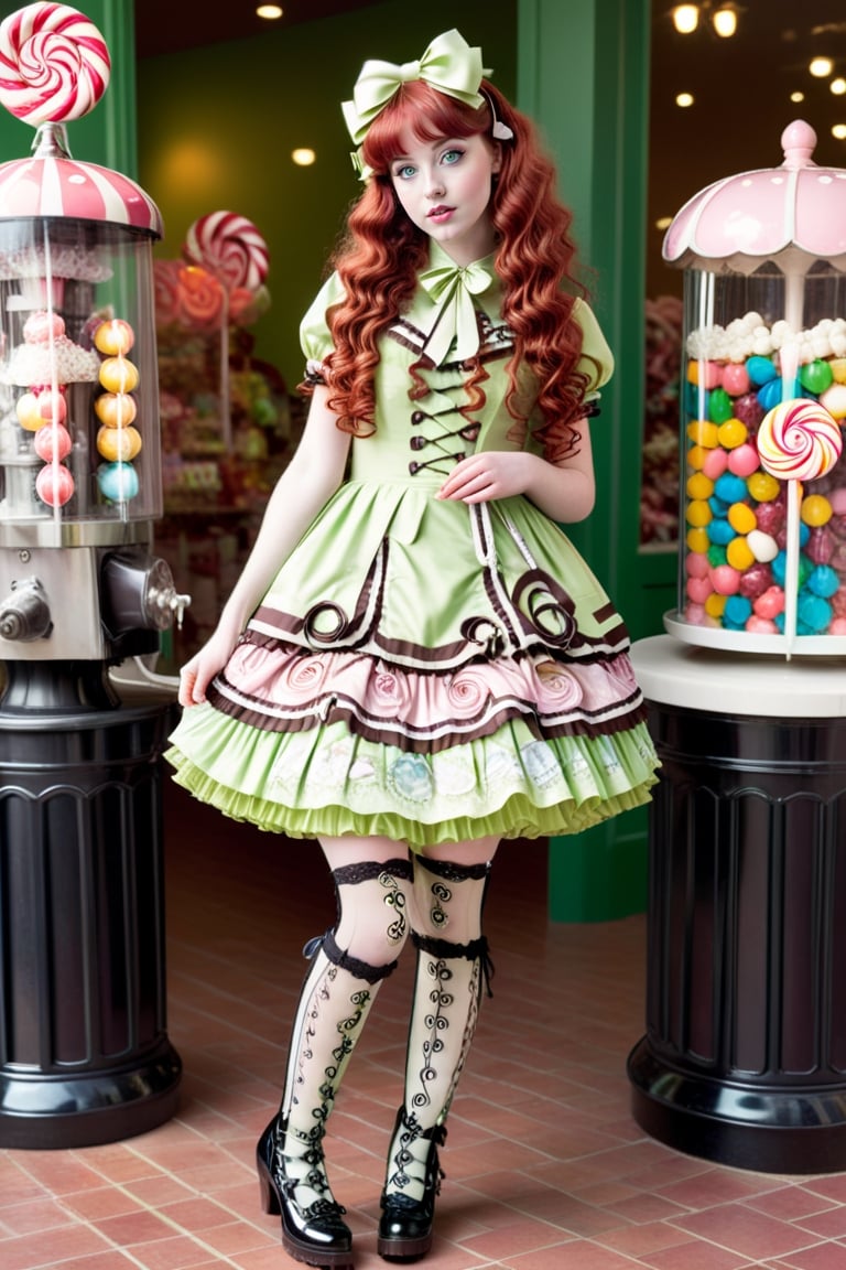
[[[797,119],[781,133],[780,168],[724,177],[694,194],[665,235],[665,260],[750,273],[786,253],[805,257],[805,267],[826,259],[846,269],[846,169],[817,166],[816,145],[814,130]]]

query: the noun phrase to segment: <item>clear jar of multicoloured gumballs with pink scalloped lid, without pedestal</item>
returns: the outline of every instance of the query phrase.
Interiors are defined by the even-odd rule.
[[[677,610],[670,634],[750,653],[846,652],[846,170],[816,133],[675,216],[685,269]]]

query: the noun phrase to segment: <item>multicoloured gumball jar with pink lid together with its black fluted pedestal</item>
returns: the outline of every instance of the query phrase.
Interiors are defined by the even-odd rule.
[[[846,170],[813,130],[674,218],[677,608],[633,648],[649,809],[633,1115],[761,1172],[846,1168]]]

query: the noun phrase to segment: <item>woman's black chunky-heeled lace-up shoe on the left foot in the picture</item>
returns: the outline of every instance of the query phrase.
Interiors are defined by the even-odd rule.
[[[353,1265],[353,1234],[341,1220],[346,1209],[331,1198],[322,1171],[321,1139],[322,1132],[316,1132],[306,1153],[285,1156],[285,1124],[279,1116],[270,1121],[256,1147],[261,1210],[282,1218],[282,1246],[294,1261],[340,1270]],[[290,1177],[288,1166],[303,1162],[308,1172],[303,1177]],[[318,1198],[311,1204],[299,1204],[297,1190],[301,1186],[308,1186]]]

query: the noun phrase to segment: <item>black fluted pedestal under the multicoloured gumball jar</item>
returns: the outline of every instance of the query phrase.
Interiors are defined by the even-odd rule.
[[[649,725],[633,1115],[723,1165],[846,1170],[846,719],[649,702]]]

